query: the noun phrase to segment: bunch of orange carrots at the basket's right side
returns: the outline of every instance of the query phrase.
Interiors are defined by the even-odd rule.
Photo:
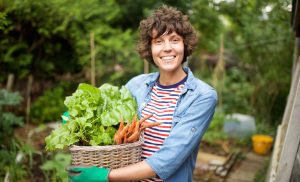
[[[151,128],[154,126],[158,126],[161,124],[161,122],[146,122],[147,119],[149,119],[152,116],[152,114],[137,120],[137,116],[135,115],[133,117],[133,120],[131,123],[128,123],[127,125],[124,124],[124,120],[120,118],[120,126],[117,130],[114,141],[117,145],[124,144],[124,143],[133,143],[139,140],[141,132],[145,128]]]

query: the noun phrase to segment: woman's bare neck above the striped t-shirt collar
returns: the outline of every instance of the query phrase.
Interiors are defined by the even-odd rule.
[[[180,82],[186,75],[183,68],[178,69],[175,72],[160,72],[159,83],[163,86],[173,85]]]

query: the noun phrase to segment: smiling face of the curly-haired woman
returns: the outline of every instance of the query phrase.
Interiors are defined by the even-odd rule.
[[[157,31],[152,31],[156,37]],[[184,57],[183,38],[176,32],[164,33],[153,38],[151,41],[151,51],[154,63],[161,73],[176,73],[182,71],[182,61]]]

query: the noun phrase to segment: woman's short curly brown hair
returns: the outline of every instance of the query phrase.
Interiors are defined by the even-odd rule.
[[[152,35],[153,29],[158,32],[156,37]],[[146,59],[153,65],[155,65],[155,63],[152,58],[151,40],[160,37],[165,32],[170,34],[175,31],[183,38],[184,58],[182,63],[192,54],[198,42],[197,33],[191,25],[189,17],[183,15],[182,12],[176,8],[167,5],[162,5],[155,10],[151,16],[142,20],[139,30],[140,39],[137,44],[137,51],[141,58]]]

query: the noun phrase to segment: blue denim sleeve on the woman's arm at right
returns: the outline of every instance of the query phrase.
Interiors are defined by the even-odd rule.
[[[184,112],[174,116],[174,127],[161,149],[146,159],[163,180],[174,174],[197,149],[212,120],[217,103],[216,91],[209,89],[195,98]]]

